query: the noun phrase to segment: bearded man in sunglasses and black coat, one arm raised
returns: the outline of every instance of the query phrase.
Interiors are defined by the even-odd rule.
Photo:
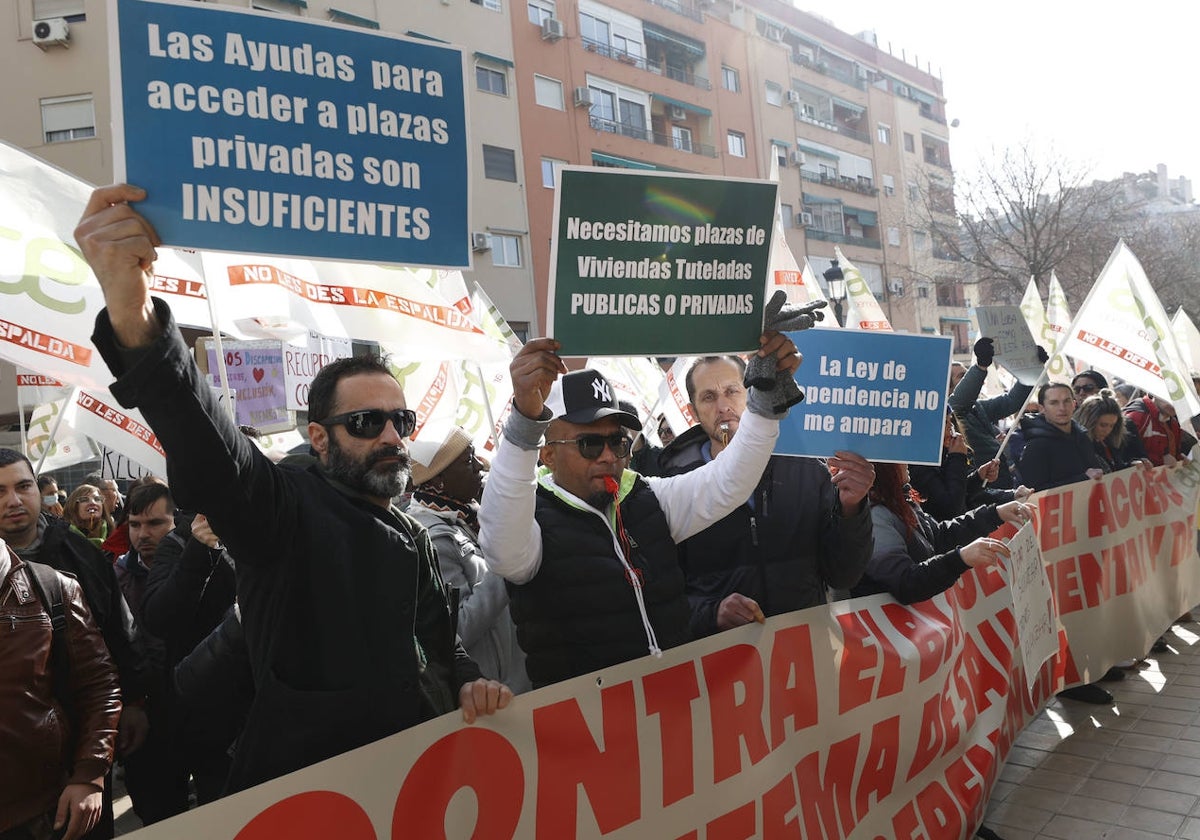
[[[392,497],[415,414],[378,359],[332,362],[310,389],[314,460],[276,466],[216,404],[170,310],[150,296],[160,242],[128,185],[96,190],[76,240],[106,308],[92,342],[167,452],[175,499],[238,558],[254,678],[228,788],[238,791],[462,709],[511,698],[457,643],[428,534]]]

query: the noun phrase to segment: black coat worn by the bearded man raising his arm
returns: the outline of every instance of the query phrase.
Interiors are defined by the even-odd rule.
[[[121,350],[108,312],[92,342],[167,452],[176,503],[203,510],[238,558],[256,696],[230,790],[362,746],[449,709],[479,677],[456,644],[437,557],[412,518],[335,486],[319,467],[271,463],[217,406],[169,308],[164,332]]]

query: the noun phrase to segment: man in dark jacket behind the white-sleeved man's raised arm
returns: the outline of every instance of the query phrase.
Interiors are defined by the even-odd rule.
[[[707,463],[737,433],[744,371],[737,356],[706,356],[688,371],[700,426],[662,450],[665,475]],[[865,498],[875,468],[853,452],[829,466],[833,476],[815,458],[772,456],[745,504],[679,545],[694,635],[817,606],[827,589],[858,582],[874,545]]]

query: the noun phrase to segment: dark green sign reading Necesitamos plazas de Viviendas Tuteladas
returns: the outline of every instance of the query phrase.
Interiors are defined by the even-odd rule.
[[[569,356],[758,347],[776,185],[564,168],[547,332]]]

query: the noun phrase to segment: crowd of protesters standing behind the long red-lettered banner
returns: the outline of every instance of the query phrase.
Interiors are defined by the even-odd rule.
[[[1033,491],[1188,456],[1172,406],[1094,371],[980,398],[990,340],[952,372],[938,466],[773,455],[800,359],[768,320],[744,383],[695,361],[698,422],[670,436],[552,338],[514,358],[490,464],[460,428],[406,443],[373,356],[325,366],[308,445],[275,463],[215,402],[169,307],[128,186],[76,235],[106,308],[94,342],[166,479],[100,475],[62,502],[0,450],[0,840],[113,834],[112,768],[138,817],[274,779],[460,710],[852,595],[913,602],[1001,562]],[[658,424],[662,446],[643,424]],[[1016,425],[1013,440],[1001,424]],[[670,438],[670,439],[668,439]],[[636,464],[636,469],[631,468]],[[485,478],[486,475],[486,478]],[[1098,686],[1070,695],[1111,702]],[[10,761],[20,756],[20,761]],[[40,768],[36,773],[29,768]]]

